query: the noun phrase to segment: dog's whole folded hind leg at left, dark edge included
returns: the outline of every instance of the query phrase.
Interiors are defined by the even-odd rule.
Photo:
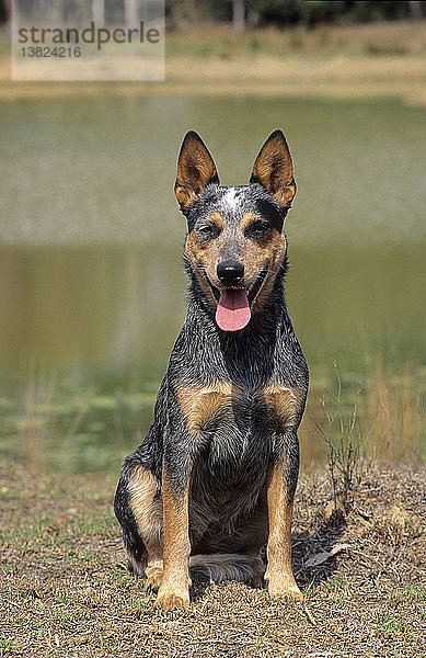
[[[115,512],[133,571],[146,576],[146,587],[157,590],[163,571],[163,507],[150,470],[136,465],[122,473]]]

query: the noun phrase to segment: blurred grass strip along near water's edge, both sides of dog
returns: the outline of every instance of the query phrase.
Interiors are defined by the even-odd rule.
[[[84,384],[33,373],[0,397],[0,456],[42,470],[117,472],[148,430],[159,384],[142,372],[88,374]],[[302,460],[323,464],[334,451],[336,474],[350,469],[358,453],[418,463],[425,428],[425,368],[406,365],[396,376],[380,360],[359,376],[314,368],[300,429]]]

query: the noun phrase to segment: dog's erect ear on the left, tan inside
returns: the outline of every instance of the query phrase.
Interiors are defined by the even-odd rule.
[[[215,162],[199,135],[189,131],[179,154],[174,184],[174,193],[181,208],[186,208],[209,183],[219,184]]]

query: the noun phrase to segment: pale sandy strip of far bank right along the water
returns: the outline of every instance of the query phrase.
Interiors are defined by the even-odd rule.
[[[59,98],[143,97],[264,97],[324,99],[331,101],[395,100],[411,106],[426,106],[426,59],[390,57],[376,61],[337,57],[323,61],[291,57],[287,60],[263,58],[255,63],[235,59],[227,63],[212,58],[204,61],[210,75],[194,83],[198,59],[186,57],[166,61],[163,82],[138,81],[12,81],[10,64],[0,59],[3,101]],[[262,77],[262,70],[267,76]],[[249,73],[251,72],[251,77]]]

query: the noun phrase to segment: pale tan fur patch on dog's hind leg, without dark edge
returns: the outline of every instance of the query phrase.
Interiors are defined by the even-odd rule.
[[[140,537],[147,549],[145,565],[131,564],[136,571],[141,575],[152,565],[158,565],[162,559],[164,533],[163,533],[163,503],[158,496],[158,486],[152,474],[142,466],[136,466],[131,472],[129,483],[130,509],[136,519]],[[146,582],[146,586],[153,586]]]

